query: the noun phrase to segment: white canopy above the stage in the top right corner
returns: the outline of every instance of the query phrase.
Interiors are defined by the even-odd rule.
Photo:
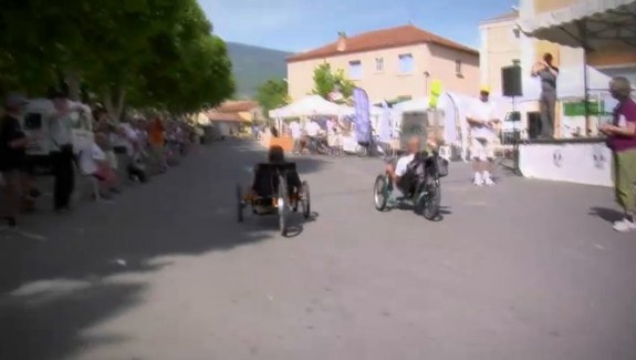
[[[599,50],[616,42],[636,48],[636,0],[581,0],[571,7],[522,19],[529,37],[572,48]]]

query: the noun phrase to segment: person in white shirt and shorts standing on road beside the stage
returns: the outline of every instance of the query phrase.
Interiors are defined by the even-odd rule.
[[[482,86],[479,100],[470,106],[466,117],[470,127],[470,157],[475,172],[475,185],[494,185],[492,181],[492,163],[494,161],[493,142],[497,138],[496,126],[499,123],[497,106],[489,100],[490,90]]]

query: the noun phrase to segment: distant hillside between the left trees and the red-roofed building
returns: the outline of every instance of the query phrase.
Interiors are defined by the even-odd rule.
[[[270,79],[286,78],[285,58],[291,53],[228,42],[239,99],[253,97],[257,88]]]

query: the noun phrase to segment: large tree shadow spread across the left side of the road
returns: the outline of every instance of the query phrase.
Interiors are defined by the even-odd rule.
[[[239,151],[246,144],[202,146],[114,204],[82,203],[63,216],[40,212],[24,218],[28,233],[0,233],[0,359],[64,359],[127,341],[90,335],[96,323],[146,301],[149,284],[115,275],[155,272],[171,266],[169,257],[280,238],[275,220],[237,224],[234,185],[249,183],[244,167],[265,158],[264,151]],[[296,161],[301,177],[327,164]]]

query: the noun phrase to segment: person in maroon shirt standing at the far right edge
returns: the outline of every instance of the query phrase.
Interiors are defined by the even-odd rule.
[[[614,229],[627,233],[636,229],[636,103],[629,97],[632,86],[625,78],[612,79],[609,92],[618,105],[614,109],[612,124],[603,125],[601,132],[607,135],[607,145],[614,154],[616,200],[625,214],[622,220],[614,223]]]

